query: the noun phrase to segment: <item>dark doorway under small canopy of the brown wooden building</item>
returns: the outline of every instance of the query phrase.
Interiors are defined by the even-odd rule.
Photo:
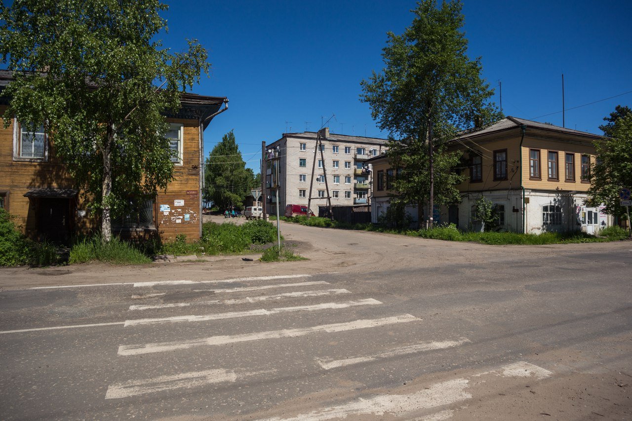
[[[70,240],[70,199],[40,198],[37,212],[37,236],[53,243]]]

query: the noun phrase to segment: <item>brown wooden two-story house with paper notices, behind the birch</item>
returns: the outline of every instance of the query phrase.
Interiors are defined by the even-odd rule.
[[[0,90],[11,72],[0,71]],[[9,104],[0,92],[0,116]],[[202,235],[202,182],[204,130],[226,107],[225,97],[183,94],[178,114],[169,115],[169,146],[174,181],[166,191],[139,202],[126,215],[112,220],[112,231],[123,238],[160,238],[169,241],[184,234]],[[4,128],[0,118],[0,207],[16,216],[15,223],[35,240],[67,242],[71,236],[100,229],[98,214],[87,202],[55,154],[54,136],[44,130],[28,133],[12,118]]]

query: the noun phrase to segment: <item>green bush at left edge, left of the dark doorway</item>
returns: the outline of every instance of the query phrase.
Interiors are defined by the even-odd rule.
[[[59,261],[54,245],[35,243],[18,231],[14,217],[0,209],[0,266],[52,265]]]

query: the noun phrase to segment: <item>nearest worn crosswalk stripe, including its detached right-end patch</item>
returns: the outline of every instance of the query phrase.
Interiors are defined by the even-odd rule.
[[[549,377],[551,372],[542,367],[528,362],[517,362],[504,365],[495,370],[490,370],[480,374],[472,375],[478,377],[485,374],[497,374],[503,377],[526,377],[533,376],[537,379]],[[544,376],[544,377],[542,377]],[[357,398],[348,403],[330,406],[312,412],[303,413],[291,418],[267,418],[265,421],[324,421],[331,419],[346,418],[354,415],[384,415],[391,413],[397,417],[418,412],[425,409],[437,408],[444,405],[453,405],[458,401],[465,401],[472,398],[471,393],[466,389],[469,387],[469,379],[460,378],[432,384],[423,390],[410,394],[379,394],[371,398]],[[423,421],[445,420],[453,415],[453,410],[441,410],[431,415],[415,418]],[[354,419],[355,419],[354,418]]]

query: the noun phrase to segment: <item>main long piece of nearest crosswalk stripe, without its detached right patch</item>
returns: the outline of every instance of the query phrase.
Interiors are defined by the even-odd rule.
[[[322,421],[334,418],[346,418],[349,415],[384,415],[393,413],[402,416],[428,408],[449,405],[458,401],[470,399],[472,396],[465,391],[468,387],[467,379],[455,379],[436,383],[427,389],[410,394],[379,394],[372,398],[358,398],[342,405],[330,406],[292,418],[268,418],[266,421]]]

